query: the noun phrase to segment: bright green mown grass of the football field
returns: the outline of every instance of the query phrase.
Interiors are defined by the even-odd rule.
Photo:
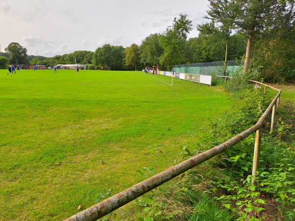
[[[0,70],[0,221],[62,220],[142,181],[143,166],[172,166],[230,100],[169,83],[143,72]]]

